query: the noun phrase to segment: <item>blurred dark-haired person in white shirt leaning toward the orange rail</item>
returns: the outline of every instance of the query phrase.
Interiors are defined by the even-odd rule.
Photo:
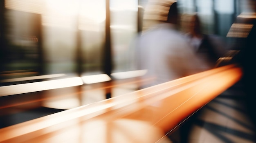
[[[156,77],[156,79],[153,82],[145,83],[141,88],[210,68],[195,55],[178,31],[178,18],[177,1],[175,0],[150,0],[148,7],[145,8],[144,19],[147,22],[150,21],[151,25],[135,40],[135,62],[137,69],[148,70],[145,78]],[[145,21],[143,24],[146,24]]]

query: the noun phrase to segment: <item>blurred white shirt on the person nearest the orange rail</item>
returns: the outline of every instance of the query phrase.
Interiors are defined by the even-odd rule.
[[[209,69],[172,24],[158,24],[145,32],[135,48],[139,69],[147,69],[147,75],[157,77],[149,86]]]

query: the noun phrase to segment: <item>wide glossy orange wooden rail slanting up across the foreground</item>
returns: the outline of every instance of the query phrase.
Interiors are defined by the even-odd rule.
[[[155,143],[240,80],[235,65],[0,129],[0,143]]]

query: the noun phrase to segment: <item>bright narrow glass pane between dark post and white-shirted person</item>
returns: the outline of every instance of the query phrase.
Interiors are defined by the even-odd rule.
[[[110,0],[110,31],[113,69],[112,73],[132,69],[131,42],[137,35],[137,0]]]

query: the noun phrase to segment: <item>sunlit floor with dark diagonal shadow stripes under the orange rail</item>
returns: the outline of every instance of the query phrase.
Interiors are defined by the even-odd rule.
[[[188,143],[255,143],[241,88],[235,84],[197,113]]]

